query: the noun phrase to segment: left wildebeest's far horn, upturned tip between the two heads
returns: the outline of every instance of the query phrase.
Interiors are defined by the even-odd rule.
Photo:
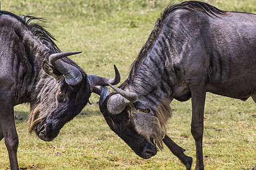
[[[114,65],[114,69],[115,69],[115,78],[113,79],[97,76],[94,74],[88,74],[87,76],[90,83],[90,87],[93,89],[94,86],[108,86],[109,83],[113,85],[118,84],[121,79],[120,74],[115,65]]]

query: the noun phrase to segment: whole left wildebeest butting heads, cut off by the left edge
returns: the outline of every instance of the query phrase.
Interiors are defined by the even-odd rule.
[[[0,11],[0,140],[5,138],[11,169],[18,169],[14,105],[30,103],[30,132],[52,141],[88,103],[94,86],[120,80],[116,67],[114,79],[86,75],[67,58],[79,52],[60,53],[55,39],[34,20],[44,21]]]

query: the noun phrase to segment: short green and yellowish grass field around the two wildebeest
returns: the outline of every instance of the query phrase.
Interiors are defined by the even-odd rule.
[[[179,3],[181,1],[175,1]],[[222,10],[256,12],[255,0],[208,0]],[[126,79],[160,12],[171,1],[2,1],[1,10],[17,15],[31,14],[49,19],[47,30],[58,40],[63,52],[79,51],[73,56],[88,74],[114,76],[113,64]],[[41,141],[28,133],[29,106],[15,107],[19,136],[20,169],[185,169],[167,147],[151,159],[144,160],[106,125],[97,95],[81,114],[61,129],[52,142]],[[171,104],[174,109],[168,135],[194,159],[195,142],[190,133],[191,100]],[[256,104],[207,94],[205,105],[205,169],[251,169],[256,164]],[[0,141],[0,169],[9,169],[4,141]]]

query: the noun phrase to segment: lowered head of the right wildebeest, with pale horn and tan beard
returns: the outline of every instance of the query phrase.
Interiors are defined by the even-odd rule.
[[[110,128],[143,159],[156,154],[156,144],[162,148],[164,124],[149,107],[138,100],[137,94],[110,84],[117,93],[101,87],[100,110]],[[170,105],[166,105],[170,111]],[[164,111],[163,111],[164,112]],[[170,113],[170,112],[169,112]]]

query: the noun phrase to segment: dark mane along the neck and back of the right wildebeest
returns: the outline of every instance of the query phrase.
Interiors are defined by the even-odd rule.
[[[132,63],[130,67],[130,73],[128,75],[128,78],[119,86],[119,88],[125,88],[131,84],[131,80],[134,77],[135,72],[137,71],[139,65],[141,64],[142,60],[147,56],[147,52],[149,49],[151,49],[152,45],[154,44],[154,41],[158,37],[160,31],[163,27],[163,21],[167,18],[167,16],[177,8],[183,8],[186,10],[193,10],[193,11],[201,11],[209,16],[220,16],[225,15],[227,11],[219,10],[218,8],[211,6],[204,2],[199,1],[186,1],[182,2],[179,5],[169,5],[166,7],[166,9],[161,12],[160,18],[158,18],[155,22],[155,28],[152,30],[150,35],[148,36],[148,39],[146,43],[142,46],[141,51],[138,54],[138,57],[135,59],[135,61]]]

